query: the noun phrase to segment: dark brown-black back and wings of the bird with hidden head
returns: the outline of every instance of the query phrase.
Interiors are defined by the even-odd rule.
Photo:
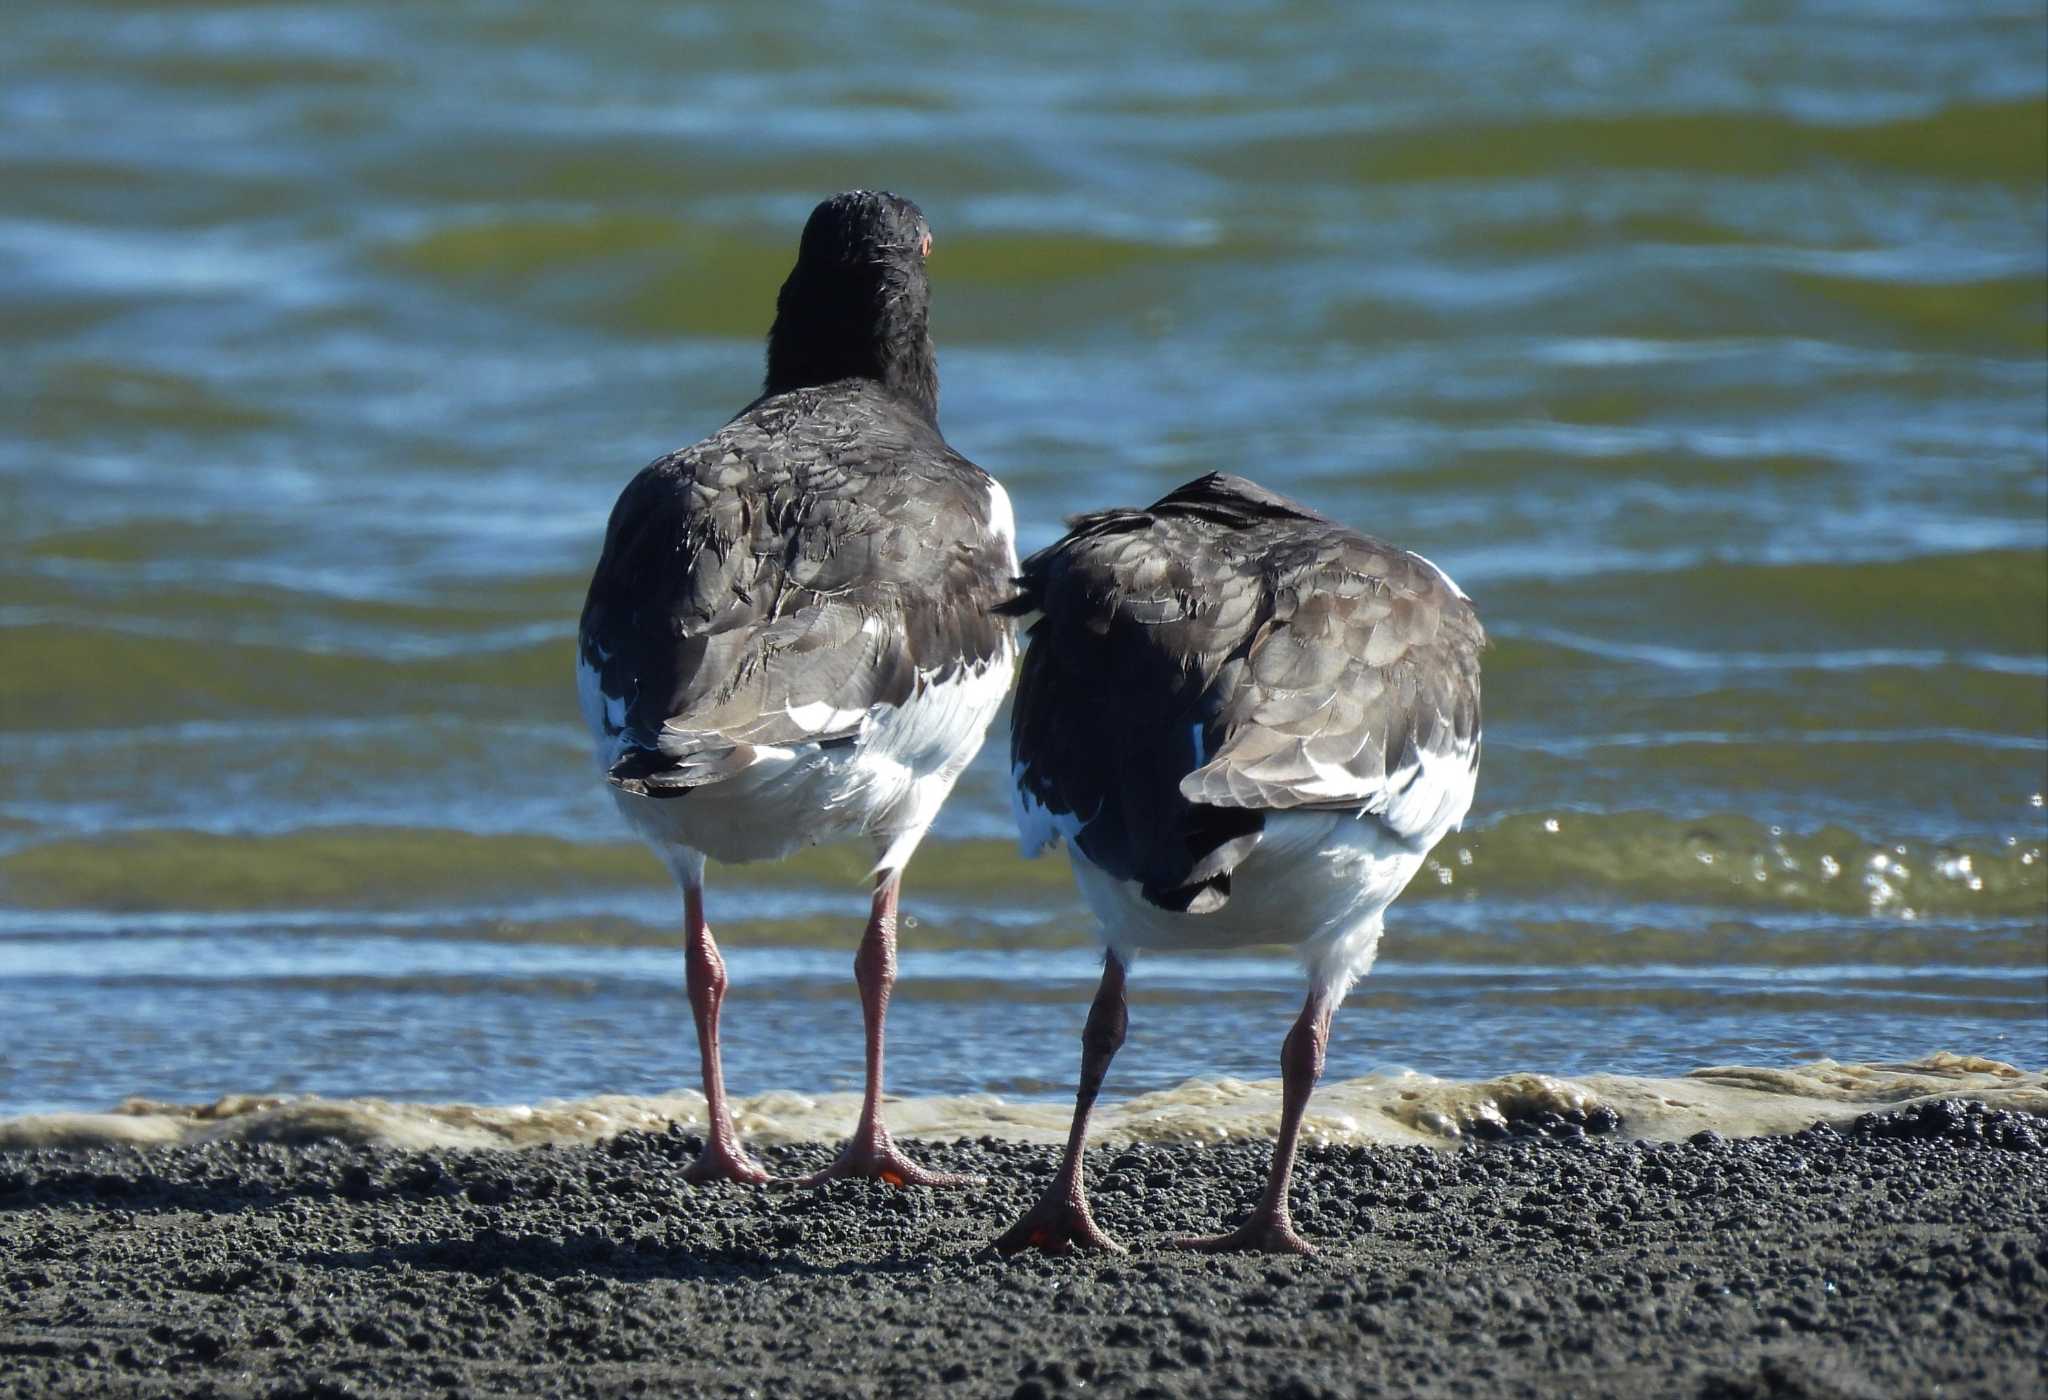
[[[1155,905],[1221,907],[1268,813],[1356,811],[1415,843],[1462,817],[1432,794],[1479,763],[1485,632],[1417,555],[1210,475],[1077,516],[1012,610],[1042,614],[1020,796]]]

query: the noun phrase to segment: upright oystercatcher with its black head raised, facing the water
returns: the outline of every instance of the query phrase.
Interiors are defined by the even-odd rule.
[[[854,976],[866,1097],[813,1181],[938,1185],[883,1124],[903,866],[981,747],[1016,645],[1010,499],[938,430],[932,233],[887,192],[821,203],[768,332],[762,397],[621,493],[590,579],[578,694],[627,823],[682,886],[709,1132],[696,1181],[766,1181],[719,1066],[725,962],[705,858],[874,843]]]

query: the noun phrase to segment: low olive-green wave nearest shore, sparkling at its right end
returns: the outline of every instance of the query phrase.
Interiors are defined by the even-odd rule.
[[[1018,860],[1008,841],[946,843],[946,860],[915,870],[915,892],[944,913],[950,896],[1047,913],[1073,907],[1065,860]],[[362,872],[377,872],[365,880]],[[774,868],[721,872],[745,890],[858,890],[852,847],[817,847]],[[498,907],[571,890],[653,894],[670,886],[625,841],[477,835],[432,827],[307,827],[281,835],[127,831],[55,839],[0,854],[0,888],[16,909],[242,911]],[[1430,858],[1409,901],[1479,892],[1597,892],[1675,905],[1788,909],[1886,919],[2028,919],[2048,907],[2048,849],[1884,841],[1827,827],[1790,833],[1735,815],[1536,811],[1452,837]],[[768,909],[758,917],[819,915]],[[983,921],[989,921],[987,917]],[[997,921],[1001,923],[1001,921]],[[803,931],[791,929],[801,942]],[[1032,933],[1024,929],[1022,935]]]

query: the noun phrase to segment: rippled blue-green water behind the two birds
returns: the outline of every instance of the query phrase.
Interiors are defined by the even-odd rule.
[[[834,188],[938,233],[1026,544],[1243,471],[1483,610],[1466,831],[1333,1077],[2048,1064],[2038,4],[0,12],[0,1111],[692,1083],[592,778],[618,485],[739,407]],[[891,1085],[1063,1097],[1094,970],[999,741]],[[737,1089],[858,1073],[860,860],[717,870]],[[1264,1077],[1149,960],[1112,1091]]]

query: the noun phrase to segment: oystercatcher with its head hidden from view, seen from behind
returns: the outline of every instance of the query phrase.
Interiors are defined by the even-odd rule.
[[[1473,804],[1479,616],[1421,555],[1225,475],[1075,518],[1012,610],[1036,614],[1012,710],[1022,845],[1065,841],[1106,954],[1065,1158],[997,1249],[1120,1249],[1081,1150],[1133,954],[1294,944],[1309,999],[1266,1197],[1180,1244],[1309,1253],[1288,1216],[1303,1109],[1380,917]]]

